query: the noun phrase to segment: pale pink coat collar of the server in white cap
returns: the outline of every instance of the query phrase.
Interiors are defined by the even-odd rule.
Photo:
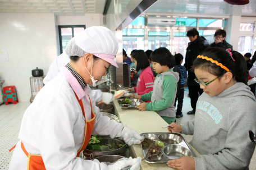
[[[72,87],[72,89],[75,91],[77,97],[79,98],[79,100],[84,97],[84,96],[88,96],[88,90],[89,87],[86,85],[86,88],[82,88],[79,81],[76,79],[76,77],[70,72],[70,70],[68,70],[68,68],[65,66],[61,67],[61,73],[64,75],[64,77],[67,79],[68,83],[70,83],[70,86]]]

